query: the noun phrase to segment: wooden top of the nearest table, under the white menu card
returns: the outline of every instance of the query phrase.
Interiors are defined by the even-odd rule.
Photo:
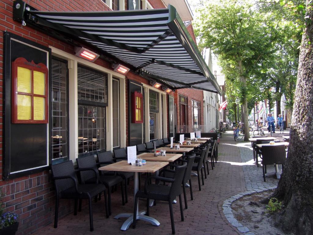
[[[119,161],[110,165],[102,166],[99,170],[112,170],[112,171],[127,171],[127,172],[149,172],[154,173],[166,166],[168,162],[146,162],[146,165],[133,166],[129,165],[127,161]]]

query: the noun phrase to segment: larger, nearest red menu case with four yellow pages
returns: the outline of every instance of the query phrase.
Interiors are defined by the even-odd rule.
[[[48,123],[48,68],[19,57],[12,63],[12,123]]]

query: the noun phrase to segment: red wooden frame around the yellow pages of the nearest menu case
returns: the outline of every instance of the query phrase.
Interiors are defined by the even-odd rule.
[[[22,67],[25,69],[31,70],[31,93],[25,93],[18,91],[18,84],[17,84],[17,75],[18,75],[18,67]],[[33,81],[33,73],[34,71],[39,71],[44,73],[45,79],[45,94],[38,95],[34,94],[34,81]],[[31,62],[27,61],[25,58],[19,57],[15,61],[12,62],[12,113],[11,113],[11,120],[12,123],[48,123],[48,68],[45,64],[39,63],[35,64],[32,60]],[[18,95],[27,95],[31,97],[31,118],[29,120],[22,120],[18,119]],[[43,97],[45,99],[44,103],[44,114],[45,119],[43,120],[34,120],[34,97]]]

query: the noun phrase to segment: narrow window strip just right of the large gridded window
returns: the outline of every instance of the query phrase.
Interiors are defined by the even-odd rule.
[[[112,80],[113,148],[120,146],[120,82]]]

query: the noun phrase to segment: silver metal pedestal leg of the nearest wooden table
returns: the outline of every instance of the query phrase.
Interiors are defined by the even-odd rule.
[[[135,199],[137,192],[138,192],[138,172],[134,172],[134,199]],[[138,203],[137,203],[137,205],[134,204],[134,206],[137,207],[137,212],[136,212],[137,213],[137,217],[136,217],[137,220],[143,220],[146,222],[150,222],[152,225],[155,225],[155,226],[160,225],[160,222],[158,222],[155,218],[152,218],[150,216],[145,216],[146,211],[139,211]],[[116,215],[114,218],[118,219],[121,217],[126,217],[126,218],[128,217],[128,219],[123,223],[123,225],[121,227],[121,230],[125,231],[132,224],[133,215],[134,215],[133,213],[120,213],[120,214]]]

